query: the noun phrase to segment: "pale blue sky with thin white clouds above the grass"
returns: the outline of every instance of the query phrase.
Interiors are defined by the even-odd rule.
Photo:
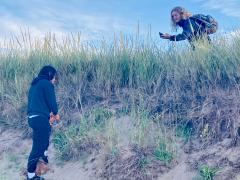
[[[220,31],[240,27],[240,0],[0,0],[0,38],[29,28],[34,36],[82,32],[87,39],[134,33],[137,24],[152,34],[170,32],[170,11],[183,6],[193,14],[210,14]]]

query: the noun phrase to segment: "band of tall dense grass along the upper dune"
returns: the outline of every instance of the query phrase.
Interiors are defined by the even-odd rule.
[[[59,72],[57,97],[68,122],[72,112],[84,112],[95,101],[114,95],[131,102],[127,97],[136,93],[146,108],[185,122],[189,110],[204,105],[209,94],[239,93],[239,37],[200,44],[195,51],[177,45],[166,50],[150,38],[124,35],[94,44],[81,42],[80,35],[59,42],[53,34],[42,40],[24,34],[1,46],[0,121],[14,128],[27,129],[29,84],[48,64]],[[92,104],[89,98],[95,98]]]

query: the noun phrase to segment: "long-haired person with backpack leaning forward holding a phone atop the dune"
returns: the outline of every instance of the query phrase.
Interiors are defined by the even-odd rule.
[[[181,27],[183,32],[178,35],[159,33],[162,39],[170,41],[188,40],[193,48],[194,41],[211,41],[209,34],[217,31],[218,23],[210,15],[196,14],[192,15],[182,7],[175,7],[171,11],[171,22],[174,29]]]

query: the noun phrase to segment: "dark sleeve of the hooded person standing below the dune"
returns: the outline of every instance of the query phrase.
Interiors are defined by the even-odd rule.
[[[46,82],[46,83],[44,83],[43,91],[44,91],[45,100],[47,102],[47,105],[48,105],[50,111],[54,115],[57,115],[58,107],[57,107],[54,86],[50,82]]]

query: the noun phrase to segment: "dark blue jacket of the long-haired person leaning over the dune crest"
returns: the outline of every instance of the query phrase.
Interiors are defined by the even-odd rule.
[[[187,39],[191,43],[192,41],[203,37],[206,37],[210,41],[210,37],[206,33],[204,24],[198,22],[194,16],[189,17],[188,19],[182,19],[178,25],[183,29],[183,32],[171,36],[170,41],[182,41]]]

